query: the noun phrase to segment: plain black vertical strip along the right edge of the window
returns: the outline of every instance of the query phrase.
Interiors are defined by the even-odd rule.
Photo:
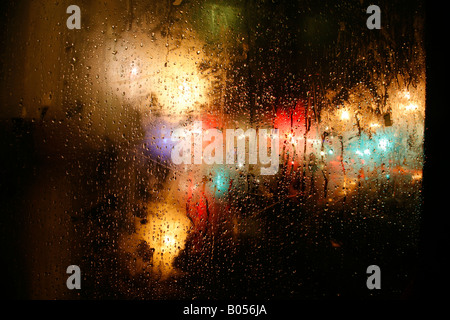
[[[420,266],[414,298],[441,300],[449,297],[448,259],[450,229],[446,194],[446,145],[448,139],[448,47],[449,17],[438,3],[425,3],[425,50],[427,92],[425,111],[424,209],[421,229]]]

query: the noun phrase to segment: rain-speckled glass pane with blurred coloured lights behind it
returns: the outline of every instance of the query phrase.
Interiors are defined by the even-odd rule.
[[[421,1],[380,1],[380,16],[365,1],[75,2],[2,13],[11,296],[407,293],[423,203]]]

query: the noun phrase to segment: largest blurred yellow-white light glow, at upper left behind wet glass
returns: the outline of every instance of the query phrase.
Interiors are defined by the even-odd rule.
[[[142,111],[150,105],[174,122],[186,113],[199,112],[208,103],[211,80],[198,70],[202,55],[190,54],[197,41],[177,47],[168,56],[163,42],[140,46],[146,37],[129,34],[128,46],[134,49],[116,50],[107,60],[108,89]]]

